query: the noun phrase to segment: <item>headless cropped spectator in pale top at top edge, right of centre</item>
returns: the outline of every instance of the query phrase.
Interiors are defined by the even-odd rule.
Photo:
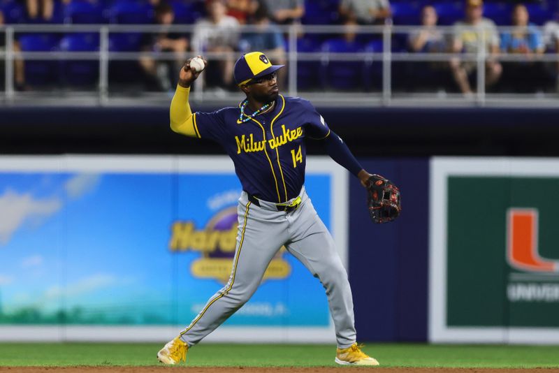
[[[344,24],[384,24],[391,17],[388,0],[342,0],[339,12]]]

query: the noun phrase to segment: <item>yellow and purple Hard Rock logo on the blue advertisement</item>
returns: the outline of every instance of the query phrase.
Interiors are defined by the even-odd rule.
[[[237,245],[237,207],[217,212],[204,228],[194,221],[175,221],[171,226],[169,249],[175,253],[198,251],[201,256],[191,262],[191,274],[199,279],[216,279],[225,284],[231,275]],[[285,249],[277,252],[263,279],[285,279],[291,265],[284,259]]]

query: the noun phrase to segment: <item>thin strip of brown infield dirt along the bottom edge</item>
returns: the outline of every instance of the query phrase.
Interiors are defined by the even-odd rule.
[[[0,372],[10,373],[157,373],[157,372],[189,372],[189,373],[340,373],[344,369],[355,372],[375,373],[559,373],[558,368],[417,368],[417,367],[0,367]]]

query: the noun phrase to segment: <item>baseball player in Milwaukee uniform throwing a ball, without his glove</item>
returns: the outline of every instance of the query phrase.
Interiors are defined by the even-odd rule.
[[[170,127],[186,136],[218,142],[233,160],[243,189],[237,210],[237,246],[226,286],[157,358],[170,365],[185,361],[189,347],[249,300],[268,263],[285,246],[326,289],[337,339],[335,362],[379,365],[356,343],[347,272],[305,191],[307,139],[322,142],[332,159],[356,175],[363,186],[371,175],[309,101],[279,94],[276,74],[284,65],[271,64],[261,52],[243,55],[235,63],[234,78],[247,98],[236,108],[193,114],[189,90],[201,71],[194,62],[191,67],[190,61],[180,71],[170,104]],[[199,69],[200,61],[196,66]]]

